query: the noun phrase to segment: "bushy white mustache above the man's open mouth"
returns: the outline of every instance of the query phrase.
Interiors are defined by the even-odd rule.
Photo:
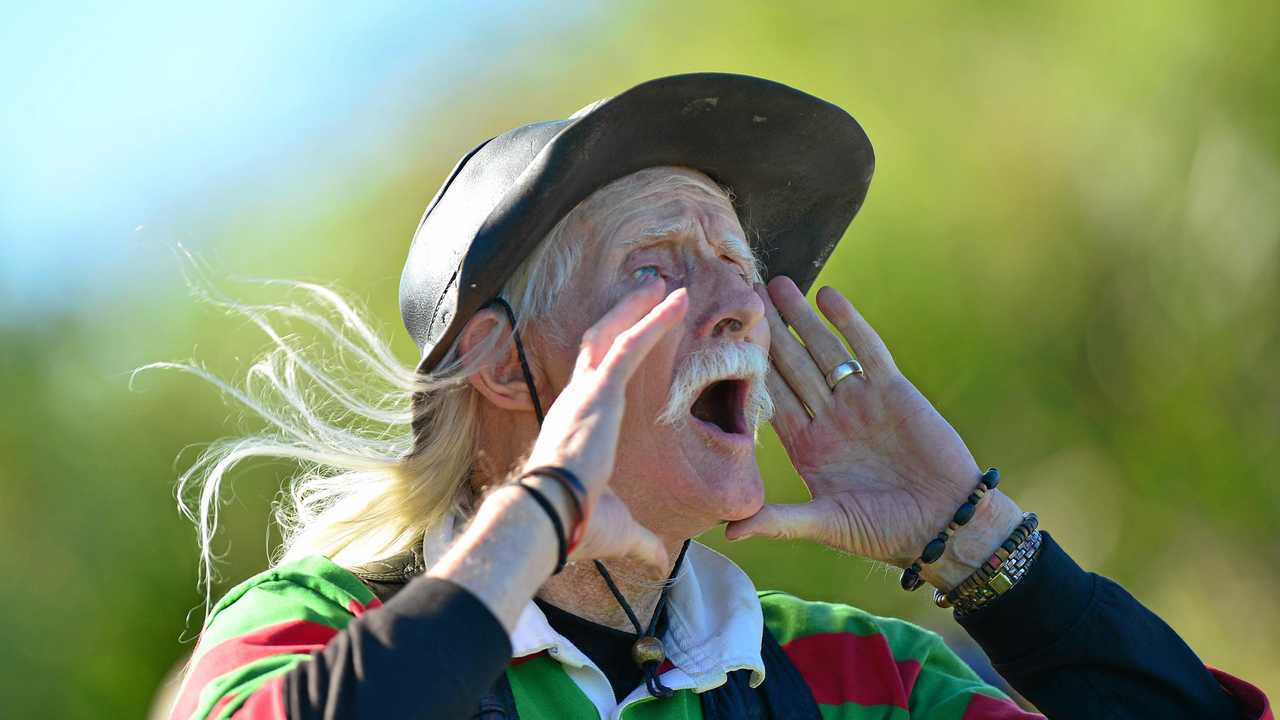
[[[658,414],[658,421],[676,428],[684,425],[689,420],[689,409],[707,386],[732,378],[748,383],[746,423],[755,434],[760,423],[773,418],[773,398],[764,384],[768,374],[768,354],[749,342],[726,342],[691,352],[671,378],[667,405]]]

